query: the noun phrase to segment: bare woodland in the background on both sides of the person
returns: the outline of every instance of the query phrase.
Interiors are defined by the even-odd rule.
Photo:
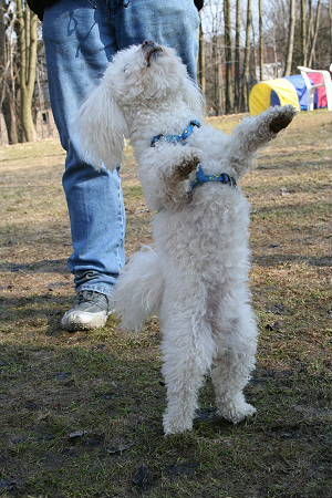
[[[39,137],[52,133],[38,20],[25,2],[0,0],[0,139],[9,143],[34,139],[35,122]],[[206,0],[201,19],[198,79],[210,115],[247,112],[258,80],[332,62],[332,0]]]

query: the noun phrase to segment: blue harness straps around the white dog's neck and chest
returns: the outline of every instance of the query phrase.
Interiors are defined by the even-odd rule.
[[[184,132],[180,135],[155,135],[151,142],[151,146],[155,147],[156,143],[159,141],[168,142],[169,144],[178,144],[186,145],[187,138],[193,135],[195,127],[200,128],[200,123],[197,120],[191,120],[188,124],[188,126],[184,129]],[[194,181],[191,181],[191,190],[199,185],[207,184],[208,181],[219,181],[224,185],[230,185],[231,187],[236,187],[237,183],[236,179],[232,176],[229,176],[227,173],[221,173],[220,175],[207,175],[201,164],[198,165],[198,168],[196,170],[196,178]]]

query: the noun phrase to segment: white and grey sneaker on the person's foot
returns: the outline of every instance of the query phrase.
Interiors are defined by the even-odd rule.
[[[77,292],[74,307],[62,317],[61,326],[70,332],[100,329],[106,324],[111,313],[108,295],[83,290]]]

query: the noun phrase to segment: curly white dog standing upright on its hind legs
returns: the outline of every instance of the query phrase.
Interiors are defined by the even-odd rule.
[[[257,326],[248,289],[249,204],[238,181],[257,149],[295,114],[292,106],[273,107],[229,136],[204,124],[203,112],[175,52],[144,42],[114,58],[76,122],[76,144],[97,167],[116,167],[124,136],[131,139],[156,211],[155,249],[134,255],[115,299],[127,329],[159,314],[165,434],[193,427],[209,372],[220,416],[238,423],[256,412],[242,393],[255,366]]]

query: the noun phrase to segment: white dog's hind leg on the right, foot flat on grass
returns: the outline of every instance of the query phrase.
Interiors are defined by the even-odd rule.
[[[221,320],[216,343],[211,377],[218,413],[237,424],[256,413],[243,395],[255,367],[257,347],[256,321],[249,304],[239,305],[237,318]]]

